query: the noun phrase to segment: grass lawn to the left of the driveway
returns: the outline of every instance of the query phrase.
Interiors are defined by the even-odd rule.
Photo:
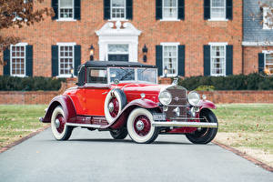
[[[45,105],[0,105],[0,147],[45,126],[38,121]]]

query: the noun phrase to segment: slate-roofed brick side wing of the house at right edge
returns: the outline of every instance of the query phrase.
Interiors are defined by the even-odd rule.
[[[261,8],[258,2],[244,0],[243,73],[267,70],[273,74],[273,26],[267,21],[268,8]]]

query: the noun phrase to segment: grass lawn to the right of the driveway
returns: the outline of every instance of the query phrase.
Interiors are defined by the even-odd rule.
[[[219,136],[232,147],[250,147],[273,154],[273,104],[218,105],[214,111],[219,123]]]

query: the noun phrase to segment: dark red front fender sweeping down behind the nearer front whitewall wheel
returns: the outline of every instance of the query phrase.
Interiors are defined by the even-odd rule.
[[[147,108],[147,109],[158,107],[157,103],[146,98],[133,100],[125,106],[125,108],[121,111],[120,115],[116,117],[116,120],[113,122],[113,124],[110,127],[112,129],[117,129],[124,126],[126,124],[127,116],[129,116],[131,111],[137,106]]]

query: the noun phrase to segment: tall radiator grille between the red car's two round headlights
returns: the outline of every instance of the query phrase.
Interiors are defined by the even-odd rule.
[[[172,101],[165,112],[167,119],[174,120],[176,117],[187,117],[187,89],[182,86],[171,86],[167,91],[172,95]],[[180,110],[180,115],[174,112],[174,109]]]

